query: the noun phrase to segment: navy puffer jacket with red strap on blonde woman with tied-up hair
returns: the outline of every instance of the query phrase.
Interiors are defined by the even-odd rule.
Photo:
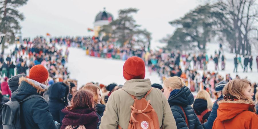
[[[188,120],[189,129],[203,129],[193,108],[190,106],[193,104],[193,101],[193,94],[186,86],[182,87],[175,95],[169,97],[168,102],[178,129],[188,129],[185,122],[185,115]],[[178,105],[183,107],[185,115]]]

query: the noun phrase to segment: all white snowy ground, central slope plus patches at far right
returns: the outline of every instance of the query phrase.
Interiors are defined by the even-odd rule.
[[[214,56],[214,51],[219,49],[218,44],[207,44],[207,54]],[[123,77],[123,60],[116,59],[105,59],[86,56],[85,50],[82,48],[69,48],[69,62],[67,67],[71,79],[78,80],[78,87],[84,85],[88,82],[98,82],[108,85],[110,83],[124,84],[125,80]],[[252,83],[257,82],[258,73],[257,73],[257,64],[256,64],[256,55],[253,55],[253,72],[250,72],[248,68],[248,73],[243,73],[241,66],[238,67],[238,73],[233,73],[234,69],[234,56],[235,54],[229,53],[226,48],[224,48],[224,55],[226,58],[226,68],[225,71],[219,70],[219,74],[225,77],[226,74],[230,73],[232,79],[236,75],[239,75],[241,78],[247,77]],[[242,63],[244,59],[242,58]],[[249,66],[248,66],[249,67]],[[219,63],[219,68],[221,68],[221,62]],[[208,63],[208,71],[215,71],[215,64],[212,60]],[[202,74],[202,71],[198,71]],[[146,68],[146,77],[149,78],[151,83],[162,84],[161,78],[157,73],[153,72],[152,75],[148,73]]]

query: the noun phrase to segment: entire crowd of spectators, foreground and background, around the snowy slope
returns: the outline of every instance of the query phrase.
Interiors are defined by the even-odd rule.
[[[116,48],[123,54],[131,54],[124,56],[126,61],[120,68],[126,80],[124,85],[88,82],[77,87],[77,81],[69,78],[65,67],[69,50],[63,52],[56,47],[56,44],[75,46],[77,40],[81,40],[82,47],[87,42],[97,42],[97,39],[89,38],[56,38],[46,43],[44,38],[36,38],[32,42],[26,41],[24,46],[15,47],[17,50],[9,56],[11,61],[15,60],[14,71],[19,71],[16,70],[20,69],[17,65],[22,63],[31,67],[28,67],[29,72],[22,73],[12,74],[9,67],[5,67],[6,73],[2,71],[2,76],[5,76],[0,95],[3,129],[19,126],[31,129],[258,128],[255,124],[258,121],[257,85],[239,76],[236,79],[230,75],[223,78],[215,72],[204,72],[201,77],[197,70],[207,69],[203,63],[207,62],[205,53],[199,55],[201,58],[204,56],[205,60],[203,58],[196,63],[193,60],[191,63],[187,62],[187,58],[192,57],[186,54],[184,59],[180,52],[171,58],[172,54],[166,55],[163,51],[150,50],[142,55],[144,48]],[[109,45],[105,46],[96,45],[95,49],[90,45],[85,50],[87,54],[95,56],[94,50],[107,48],[107,53],[102,54],[105,58],[120,56],[108,55],[111,49]],[[220,57],[219,54],[215,58]],[[97,56],[101,57],[101,52]],[[169,64],[165,64],[167,62],[164,60]],[[8,61],[9,58],[6,58],[1,64],[9,66]],[[162,62],[164,68],[159,65]],[[181,64],[185,67],[183,72]],[[160,75],[165,71],[165,66],[175,72],[168,70],[166,74],[169,76],[164,78],[163,86],[152,84],[150,79],[145,79],[146,65],[148,70],[157,71]],[[191,91],[198,93],[194,96]],[[216,98],[214,103],[212,97]],[[19,117],[14,112],[18,107]],[[19,119],[19,123],[16,119]]]

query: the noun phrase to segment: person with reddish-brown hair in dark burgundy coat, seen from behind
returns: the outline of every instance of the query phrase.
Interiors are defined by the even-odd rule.
[[[98,129],[99,118],[94,109],[94,95],[89,90],[76,91],[71,106],[62,109],[65,115],[60,129],[72,129],[84,126],[86,129]]]

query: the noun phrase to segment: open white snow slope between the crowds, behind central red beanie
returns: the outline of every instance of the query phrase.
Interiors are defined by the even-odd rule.
[[[98,57],[86,56],[86,51],[82,48],[69,48],[68,71],[71,79],[78,80],[78,87],[88,82],[98,82],[104,85],[117,83],[123,85],[125,79],[123,77],[123,60],[105,59]],[[158,73],[148,73],[146,68],[146,76],[151,83],[161,84],[161,78]]]

